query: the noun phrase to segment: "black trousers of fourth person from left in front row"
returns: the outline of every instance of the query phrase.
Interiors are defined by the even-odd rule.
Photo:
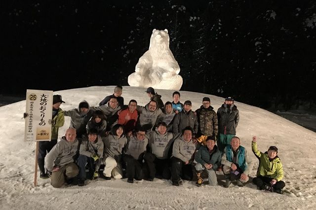
[[[124,155],[123,161],[126,165],[126,177],[141,180],[143,178],[142,160],[136,160],[131,155]]]

